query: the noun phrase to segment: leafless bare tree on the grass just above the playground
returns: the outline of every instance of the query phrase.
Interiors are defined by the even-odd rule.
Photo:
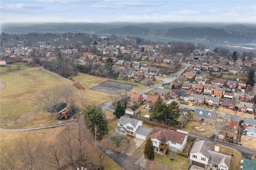
[[[64,89],[63,86],[54,86],[48,89],[43,89],[36,105],[40,106],[42,109],[50,111],[51,116],[53,116],[53,112],[57,107],[56,102],[64,95]]]

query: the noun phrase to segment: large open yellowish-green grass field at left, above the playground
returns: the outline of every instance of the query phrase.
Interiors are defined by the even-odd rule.
[[[6,87],[0,94],[0,118],[11,121],[16,121],[38,108],[36,101],[42,89],[66,84],[60,77],[40,68],[16,71],[1,76],[1,81]]]

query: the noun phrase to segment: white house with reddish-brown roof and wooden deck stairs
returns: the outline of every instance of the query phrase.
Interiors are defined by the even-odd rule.
[[[167,150],[181,153],[187,144],[188,132],[178,132],[166,128],[155,127],[149,136],[154,150],[166,154]]]

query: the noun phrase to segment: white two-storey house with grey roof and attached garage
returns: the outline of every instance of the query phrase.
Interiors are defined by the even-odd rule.
[[[151,129],[142,126],[142,121],[130,117],[121,116],[117,122],[116,133],[129,135],[136,138],[146,138],[151,134]],[[146,136],[144,136],[146,135]]]

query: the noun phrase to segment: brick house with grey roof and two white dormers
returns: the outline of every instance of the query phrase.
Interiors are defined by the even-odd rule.
[[[209,111],[209,110],[200,109],[200,108],[196,108],[193,115],[194,121],[205,122],[210,124],[215,124],[216,118],[217,118],[216,111],[214,110]]]

